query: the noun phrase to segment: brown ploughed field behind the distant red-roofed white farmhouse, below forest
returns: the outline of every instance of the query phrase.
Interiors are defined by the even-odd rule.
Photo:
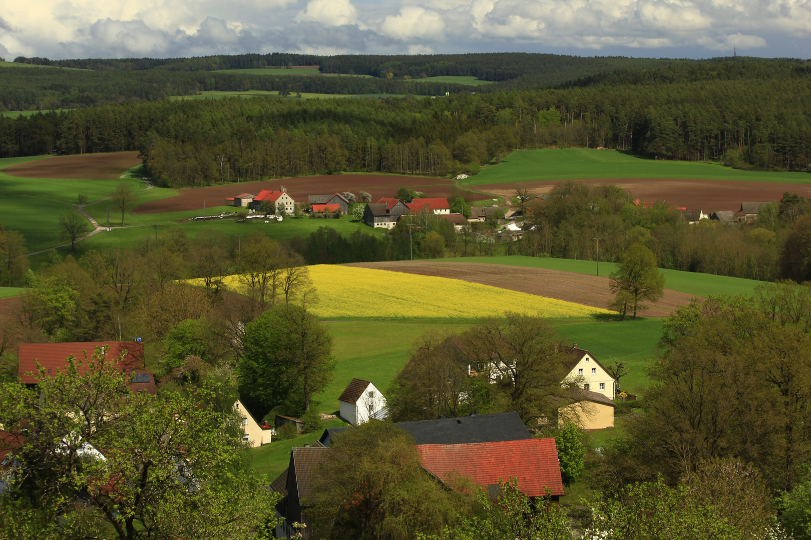
[[[8,170],[8,169],[6,169]],[[133,214],[157,214],[180,210],[223,206],[225,199],[239,193],[259,193],[262,189],[287,188],[287,193],[295,202],[307,202],[310,195],[326,195],[351,191],[358,194],[361,189],[371,193],[372,201],[381,197],[394,197],[401,187],[417,189],[427,197],[446,197],[453,182],[446,178],[426,178],[422,176],[395,176],[384,174],[338,174],[329,176],[301,176],[261,182],[244,182],[230,185],[214,185],[209,188],[179,189],[175,197],[144,202],[135,208]]]

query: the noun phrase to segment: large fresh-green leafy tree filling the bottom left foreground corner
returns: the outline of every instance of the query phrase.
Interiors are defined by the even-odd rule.
[[[232,415],[189,397],[130,393],[97,349],[39,372],[36,392],[0,390],[3,450],[15,459],[0,535],[31,538],[266,538],[277,495],[242,467]],[[11,517],[11,520],[6,517]],[[28,538],[28,536],[26,536]]]

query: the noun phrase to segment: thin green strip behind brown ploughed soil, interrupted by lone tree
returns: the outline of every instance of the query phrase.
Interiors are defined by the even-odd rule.
[[[574,259],[556,259],[551,257],[523,257],[509,255],[506,257],[453,257],[445,261],[484,262],[495,265],[529,266],[548,270],[564,270],[576,274],[596,274],[596,261],[576,261]],[[600,275],[607,276],[616,269],[615,262],[600,262]],[[707,297],[710,295],[752,296],[755,287],[763,282],[754,279],[729,278],[723,275],[700,274],[681,270],[659,269],[664,276],[664,286],[673,291],[686,292],[690,295]]]

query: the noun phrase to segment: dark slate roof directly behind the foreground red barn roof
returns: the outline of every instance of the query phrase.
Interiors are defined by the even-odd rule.
[[[532,438],[516,412],[418,420],[394,425],[409,432],[417,444],[490,443]],[[328,446],[334,436],[346,429],[346,427],[331,427],[324,430],[320,437],[321,443]]]

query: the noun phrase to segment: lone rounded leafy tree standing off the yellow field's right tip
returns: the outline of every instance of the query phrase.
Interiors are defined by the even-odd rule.
[[[617,294],[614,302],[622,298],[623,307],[632,311],[636,319],[637,312],[646,309],[642,302],[662,298],[664,277],[656,267],[654,253],[642,244],[633,244],[624,253],[620,266],[611,273],[609,283],[611,292]],[[622,318],[625,318],[624,311]]]

